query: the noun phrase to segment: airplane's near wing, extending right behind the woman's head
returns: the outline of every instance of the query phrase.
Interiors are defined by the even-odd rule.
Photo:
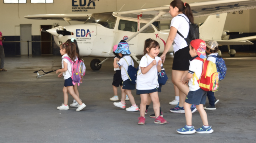
[[[228,13],[234,11],[248,10],[256,8],[255,0],[214,0],[205,2],[189,3],[194,17],[203,17],[221,13]],[[139,10],[113,12],[116,17],[124,17],[130,19],[137,19],[137,15],[142,13],[142,20],[152,20],[156,17],[159,11],[167,12],[162,17],[158,18],[157,21],[171,20],[172,17],[168,13],[169,5],[152,7]]]

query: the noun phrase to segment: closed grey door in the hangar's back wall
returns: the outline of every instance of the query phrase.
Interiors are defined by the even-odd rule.
[[[20,25],[20,41],[31,41],[31,24]],[[28,54],[28,43],[20,42],[20,54]],[[29,54],[32,54],[32,44],[29,42]]]

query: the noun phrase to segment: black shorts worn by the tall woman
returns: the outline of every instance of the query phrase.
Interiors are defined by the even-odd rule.
[[[173,70],[188,70],[190,59],[191,59],[191,56],[189,54],[189,46],[176,51],[174,53],[172,69]]]

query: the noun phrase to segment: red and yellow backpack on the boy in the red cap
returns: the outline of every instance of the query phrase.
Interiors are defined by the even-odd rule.
[[[203,70],[200,79],[193,74],[193,85],[195,85],[195,78],[199,87],[204,91],[218,91],[219,89],[219,73],[217,73],[216,64],[212,61],[207,61],[197,57],[195,60],[203,62]],[[194,78],[195,77],[195,78]]]

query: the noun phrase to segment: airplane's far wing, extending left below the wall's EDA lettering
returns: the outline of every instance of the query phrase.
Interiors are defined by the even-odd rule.
[[[27,19],[52,19],[52,20],[68,20],[68,21],[86,21],[91,14],[38,14],[27,15]]]

